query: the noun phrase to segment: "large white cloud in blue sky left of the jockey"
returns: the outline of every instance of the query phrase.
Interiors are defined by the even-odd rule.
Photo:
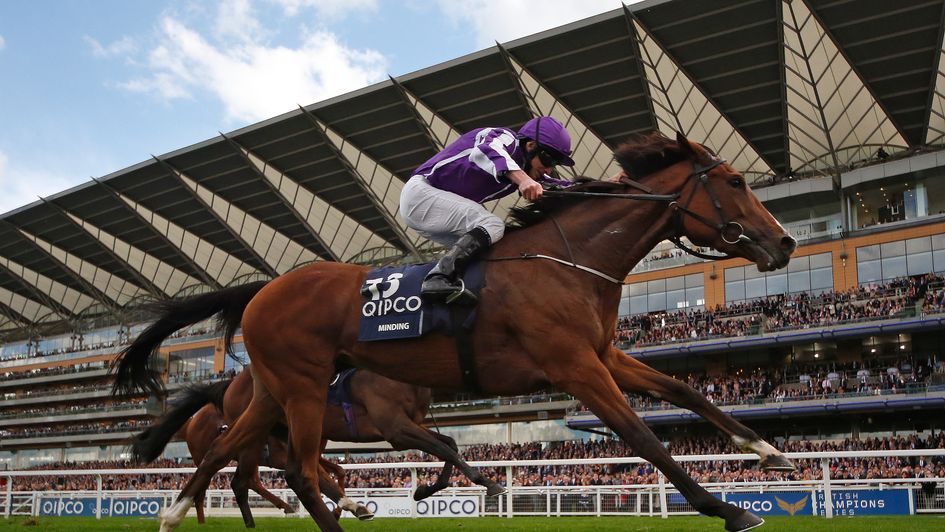
[[[222,102],[227,120],[255,122],[386,76],[388,62],[379,52],[349,48],[327,31],[304,34],[295,48],[269,46],[249,4],[227,11],[213,42],[170,16],[162,19],[149,74],[118,86],[165,100],[210,95]],[[238,28],[247,31],[234,35]]]

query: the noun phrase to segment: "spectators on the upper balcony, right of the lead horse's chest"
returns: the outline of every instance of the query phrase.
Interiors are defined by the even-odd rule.
[[[923,301],[923,309],[941,312],[942,284],[941,276],[927,274],[818,295],[782,294],[714,309],[624,316],[617,322],[614,342],[628,348],[885,319]]]

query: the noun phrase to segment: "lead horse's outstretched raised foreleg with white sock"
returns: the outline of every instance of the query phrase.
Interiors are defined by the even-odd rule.
[[[794,470],[794,464],[781,451],[758,437],[755,431],[719,410],[704,395],[688,384],[656,371],[616,347],[608,354],[605,363],[621,390],[650,395],[656,399],[669,401],[678,407],[692,410],[728,434],[740,449],[760,456],[759,465],[762,469]]]

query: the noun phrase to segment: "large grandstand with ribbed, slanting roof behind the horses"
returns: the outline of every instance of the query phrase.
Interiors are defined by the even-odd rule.
[[[661,244],[626,279],[615,343],[628,356],[785,450],[945,448],[945,0],[687,1],[692,16],[678,20],[681,3],[642,2],[496,45],[0,216],[0,470],[128,467],[123,442],[176,391],[247,361],[238,336],[226,356],[201,323],[161,348],[166,396],[112,398],[108,364],[146,325],[147,303],[318,260],[428,259],[437,250],[396,214],[411,170],[458,132],[538,114],[567,124],[575,173],[595,178],[614,173],[611,150],[628,135],[704,141],[800,242],[786,269],[767,273]],[[676,454],[735,452],[691,412],[628,400]],[[469,460],[632,454],[565,394],[437,395],[428,420]],[[347,463],[391,460],[373,454],[382,444],[331,450]],[[157,465],[189,460],[176,442]],[[813,462],[787,477],[736,464],[687,467],[703,482],[822,478]],[[846,479],[945,477],[941,457],[831,468]],[[358,470],[349,485],[406,486],[410,475]],[[88,489],[90,478],[29,477],[13,489]],[[115,475],[108,486],[175,489],[182,478]],[[266,479],[285,487],[277,473]],[[648,465],[521,468],[513,480],[657,482]],[[943,486],[929,508],[945,511]]]

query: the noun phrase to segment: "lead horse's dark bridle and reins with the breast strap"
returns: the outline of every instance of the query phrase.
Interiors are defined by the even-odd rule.
[[[605,192],[545,190],[544,195],[558,196],[558,197],[571,197],[571,198],[615,198],[615,199],[626,199],[626,200],[636,200],[636,201],[665,201],[669,204],[669,207],[673,209],[673,227],[675,228],[675,234],[672,237],[670,237],[669,240],[673,244],[675,244],[676,247],[685,251],[686,253],[689,253],[690,255],[699,257],[701,259],[725,260],[725,259],[732,258],[732,256],[728,254],[708,255],[706,253],[702,253],[701,251],[697,251],[695,249],[690,248],[689,246],[684,244],[682,240],[680,240],[680,238],[683,236],[683,216],[688,215],[692,217],[693,219],[701,222],[702,224],[712,229],[717,229],[719,231],[719,234],[722,237],[722,241],[724,241],[727,244],[735,245],[735,244],[751,242],[751,238],[745,235],[745,228],[742,227],[742,224],[738,222],[730,221],[727,219],[727,217],[725,216],[725,213],[722,211],[722,203],[719,201],[719,197],[718,195],[716,195],[715,189],[713,189],[712,186],[709,184],[709,172],[724,162],[725,162],[725,159],[717,158],[717,159],[714,159],[711,164],[708,164],[705,166],[694,166],[692,172],[690,172],[689,175],[686,176],[687,180],[692,177],[697,177],[697,179],[699,179],[698,184],[701,184],[702,187],[705,188],[706,192],[709,194],[709,197],[712,199],[712,205],[715,206],[715,210],[719,213],[719,220],[720,220],[719,223],[712,223],[701,214],[689,209],[689,205],[692,203],[692,200],[695,197],[696,189],[698,188],[698,186],[693,187],[692,192],[689,194],[689,197],[686,198],[685,205],[679,204],[679,199],[682,196],[681,193],[677,192],[675,194],[657,194],[650,187],[629,178],[621,179],[620,182],[625,185],[629,185],[633,188],[643,191],[643,194],[607,194]],[[574,254],[571,252],[571,244],[568,242],[568,238],[567,236],[565,236],[564,231],[561,229],[561,226],[558,224],[558,221],[555,220],[554,218],[551,218],[551,221],[555,224],[555,228],[558,229],[558,234],[561,235],[561,239],[564,241],[564,246],[568,252],[568,257],[570,260],[559,259],[558,257],[552,257],[550,255],[522,252],[520,255],[515,256],[515,257],[496,257],[496,258],[487,259],[487,261],[499,262],[499,261],[506,261],[506,260],[544,259],[544,260],[557,262],[565,266],[570,266],[572,268],[577,268],[578,270],[590,273],[591,275],[595,275],[597,277],[600,277],[601,279],[604,279],[606,281],[609,281],[617,285],[626,284],[623,281],[615,277],[611,277],[610,275],[607,275],[599,270],[595,270],[594,268],[590,268],[588,266],[578,264],[574,260]],[[726,230],[728,229],[735,229],[738,231],[738,233],[733,238],[730,239],[729,234],[726,233]]]

